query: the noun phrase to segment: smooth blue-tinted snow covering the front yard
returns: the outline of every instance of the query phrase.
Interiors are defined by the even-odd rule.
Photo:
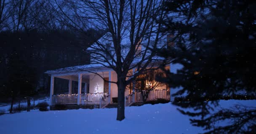
[[[256,106],[256,100],[220,101],[221,107],[232,104]],[[125,119],[116,120],[116,108],[66,111],[31,111],[0,116],[1,134],[198,134],[171,103],[125,107]]]

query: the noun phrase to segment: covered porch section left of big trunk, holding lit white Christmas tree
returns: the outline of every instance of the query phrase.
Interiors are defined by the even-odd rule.
[[[111,80],[111,71],[102,72],[102,77]],[[56,78],[68,80],[68,93],[54,92]],[[75,83],[75,85],[74,85]],[[77,90],[74,90],[77,89]],[[106,105],[110,103],[111,83],[93,73],[51,75],[50,105]]]

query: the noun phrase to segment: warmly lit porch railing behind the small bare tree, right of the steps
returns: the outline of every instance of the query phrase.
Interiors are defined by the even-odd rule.
[[[146,91],[143,91],[143,94],[145,94]],[[166,100],[170,100],[170,92],[168,90],[152,90],[149,92],[147,101],[154,101],[158,98],[163,98]],[[136,92],[135,96],[135,102],[142,102],[142,93]]]

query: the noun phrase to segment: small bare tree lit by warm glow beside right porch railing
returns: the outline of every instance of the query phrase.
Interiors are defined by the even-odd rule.
[[[143,102],[147,101],[150,91],[165,85],[164,83],[155,80],[156,77],[165,77],[165,75],[161,70],[148,70],[136,77],[136,82],[133,82],[133,89],[142,94]]]

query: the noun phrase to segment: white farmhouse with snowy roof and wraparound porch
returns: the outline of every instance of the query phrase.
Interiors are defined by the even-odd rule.
[[[165,41],[160,41],[165,44],[168,38],[165,38]],[[111,50],[113,49],[113,44],[108,39],[108,33],[101,37],[98,40],[101,44],[106,44],[106,50],[110,54],[113,54]],[[123,40],[125,42],[125,40]],[[141,43],[142,44],[142,43]],[[123,45],[125,47],[125,45]],[[90,51],[97,51],[97,48],[100,47],[99,44],[95,43],[87,49]],[[138,45],[136,53],[144,51],[143,45]],[[125,51],[123,54],[126,54]],[[138,54],[139,55],[139,54]],[[48,75],[51,75],[51,89],[50,89],[50,105],[56,104],[73,104],[78,106],[95,106],[98,105],[99,108],[104,108],[111,103],[117,103],[117,85],[112,82],[117,81],[117,74],[114,70],[108,67],[107,63],[101,62],[101,54],[95,55],[91,54],[91,64],[67,67],[58,70],[50,70],[45,72]],[[134,59],[134,63],[140,61],[138,58]],[[149,64],[150,67],[155,67],[158,65],[158,61],[161,57],[154,57],[152,63]],[[107,60],[111,62],[111,58],[107,57]],[[143,63],[142,63],[143,64]],[[170,70],[170,64],[165,66],[166,69]],[[129,71],[129,74],[132,76],[136,73],[136,67]],[[147,74],[144,75],[147,77]],[[54,94],[54,78],[61,78],[69,80],[68,93],[67,94]],[[129,77],[127,77],[129,79]],[[77,82],[77,93],[72,93],[72,81]],[[112,81],[112,82],[108,82]],[[125,106],[131,106],[133,103],[142,102],[142,92],[136,92],[134,86],[136,81],[131,83],[131,86],[127,86],[125,89]],[[83,87],[82,87],[83,85]],[[150,86],[150,83],[146,86]],[[161,84],[150,91],[148,94],[147,101],[156,100],[157,98],[163,98],[170,100],[170,89],[168,85]]]

